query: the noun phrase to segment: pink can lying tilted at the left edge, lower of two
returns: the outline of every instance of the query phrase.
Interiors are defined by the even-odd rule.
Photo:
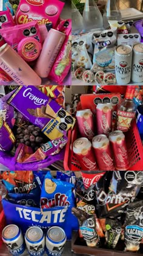
[[[38,74],[7,43],[0,48],[0,68],[18,85],[41,85]]]

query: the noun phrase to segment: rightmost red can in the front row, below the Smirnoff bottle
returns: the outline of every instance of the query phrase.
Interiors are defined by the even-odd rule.
[[[109,135],[109,140],[115,158],[115,166],[119,171],[126,171],[130,167],[127,154],[127,145],[125,143],[125,135],[121,130],[115,130]]]

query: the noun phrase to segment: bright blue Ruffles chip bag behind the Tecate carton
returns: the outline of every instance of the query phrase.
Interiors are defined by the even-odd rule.
[[[53,179],[50,172],[45,175],[41,192],[41,210],[45,212],[52,207],[68,207],[72,202],[71,183]]]

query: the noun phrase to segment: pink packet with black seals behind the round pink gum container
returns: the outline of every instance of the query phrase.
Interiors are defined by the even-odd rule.
[[[39,43],[42,43],[39,26],[36,21],[32,21],[27,24],[16,25],[13,27],[13,29],[10,27],[1,29],[0,34],[4,38],[5,42],[12,46],[12,48],[16,51],[18,50],[18,44],[20,41],[27,37],[33,37]]]

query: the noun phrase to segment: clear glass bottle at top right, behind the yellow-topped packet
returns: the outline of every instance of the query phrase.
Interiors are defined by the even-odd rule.
[[[121,21],[121,12],[118,9],[116,0],[108,0],[103,14],[103,26],[107,29],[108,21]]]

